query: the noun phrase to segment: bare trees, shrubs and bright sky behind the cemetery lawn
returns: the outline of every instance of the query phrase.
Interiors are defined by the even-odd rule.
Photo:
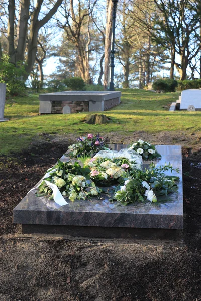
[[[66,89],[74,77],[106,89],[112,8],[112,0],[1,2],[0,82],[13,95],[25,84],[37,91]],[[164,77],[200,79],[200,2],[119,0],[115,50],[116,87],[151,88]],[[50,58],[59,61],[54,72]]]

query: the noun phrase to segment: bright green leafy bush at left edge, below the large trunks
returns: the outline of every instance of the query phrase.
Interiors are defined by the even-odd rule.
[[[0,61],[0,83],[6,83],[7,96],[23,95],[25,83],[23,80],[26,74],[24,65],[18,63],[17,67],[10,63],[9,56],[3,55]]]

